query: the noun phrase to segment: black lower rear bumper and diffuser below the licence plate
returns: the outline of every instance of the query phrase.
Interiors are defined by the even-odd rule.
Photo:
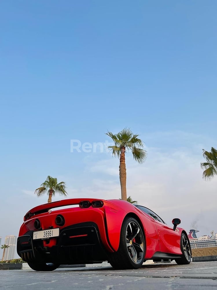
[[[32,237],[33,231],[29,231],[17,239],[17,253],[26,262],[85,264],[107,260],[98,226],[93,222],[61,229],[52,247],[45,247],[43,240]]]

